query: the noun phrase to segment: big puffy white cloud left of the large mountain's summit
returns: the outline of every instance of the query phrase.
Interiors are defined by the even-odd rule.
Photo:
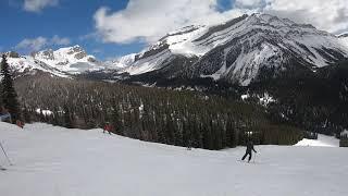
[[[126,9],[114,13],[100,8],[94,19],[105,42],[151,42],[186,25],[212,24],[240,14],[238,10],[221,13],[217,8],[217,0],[129,0]]]

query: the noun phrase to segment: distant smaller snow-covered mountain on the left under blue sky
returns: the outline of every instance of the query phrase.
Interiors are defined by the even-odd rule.
[[[7,52],[11,69],[18,74],[33,74],[36,71],[51,73],[55,76],[67,77],[86,71],[104,69],[103,64],[95,57],[88,56],[79,47],[47,49],[33,52],[30,56],[20,56],[16,52]]]

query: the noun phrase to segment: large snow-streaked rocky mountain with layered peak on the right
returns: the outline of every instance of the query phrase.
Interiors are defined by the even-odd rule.
[[[133,57],[133,56],[132,56]],[[307,24],[268,14],[243,15],[215,26],[187,26],[120,65],[139,75],[212,77],[249,85],[262,70],[323,68],[345,60],[343,39]],[[300,69],[299,69],[300,70]]]

